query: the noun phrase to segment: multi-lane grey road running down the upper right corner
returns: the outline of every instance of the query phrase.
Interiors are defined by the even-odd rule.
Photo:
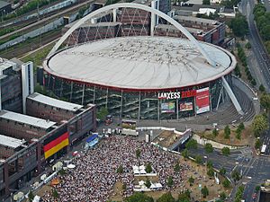
[[[257,77],[257,81],[259,81],[259,83],[263,83],[266,87],[266,90],[269,92],[270,58],[257,32],[257,28],[254,22],[254,15],[252,13],[254,5],[254,0],[243,0],[239,4],[239,10],[241,13],[247,16],[247,22],[249,26],[249,35],[247,36],[247,40],[249,40],[251,43],[251,54],[249,57],[247,57],[247,64],[251,73]]]

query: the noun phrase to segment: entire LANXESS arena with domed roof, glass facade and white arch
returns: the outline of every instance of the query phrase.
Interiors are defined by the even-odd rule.
[[[123,9],[147,13],[149,34],[125,34],[122,18],[117,17]],[[109,23],[117,24],[118,29],[114,37],[85,40],[58,50],[73,31],[101,13],[112,13]],[[184,38],[158,36],[157,16],[181,31]],[[96,26],[103,23],[108,22]],[[79,104],[94,103],[131,119],[180,119],[210,111],[222,101],[223,89],[227,92],[223,95],[229,95],[241,113],[229,87],[235,66],[236,59],[229,51],[194,40],[178,22],[142,4],[112,4],[86,15],[66,32],[43,63],[45,85],[59,97]]]

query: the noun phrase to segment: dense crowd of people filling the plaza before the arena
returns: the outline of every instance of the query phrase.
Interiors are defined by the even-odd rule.
[[[136,154],[139,149],[140,155]],[[60,176],[60,183],[56,186],[58,198],[46,193],[43,201],[60,202],[105,202],[113,196],[113,186],[116,181],[125,183],[123,197],[133,193],[134,174],[132,166],[150,163],[157,171],[158,182],[162,189],[174,189],[174,186],[184,184],[183,176],[188,166],[180,163],[180,171],[175,171],[175,163],[179,158],[175,154],[158,149],[129,136],[111,136],[103,139],[99,145],[88,150],[74,160],[76,168],[67,170]],[[117,172],[119,167],[123,172]],[[174,181],[173,187],[168,187],[168,177]]]

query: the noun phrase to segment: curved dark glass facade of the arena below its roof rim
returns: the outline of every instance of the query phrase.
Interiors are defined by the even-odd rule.
[[[231,76],[227,75],[226,79],[230,84]],[[221,93],[220,79],[193,87],[154,92],[107,88],[45,75],[45,86],[61,99],[83,105],[94,103],[98,108],[105,107],[109,113],[126,119],[182,119],[214,110],[218,102],[226,98],[226,93]],[[176,99],[158,97],[164,92],[178,92],[181,96]]]

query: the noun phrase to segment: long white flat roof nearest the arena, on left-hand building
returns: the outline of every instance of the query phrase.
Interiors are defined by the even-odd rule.
[[[59,101],[57,99],[50,98],[38,92],[32,93],[27,98],[30,100],[39,101],[40,103],[47,104],[49,106],[53,106],[53,107],[63,109],[63,110],[76,111],[84,107],[82,105],[74,104],[67,101]]]

